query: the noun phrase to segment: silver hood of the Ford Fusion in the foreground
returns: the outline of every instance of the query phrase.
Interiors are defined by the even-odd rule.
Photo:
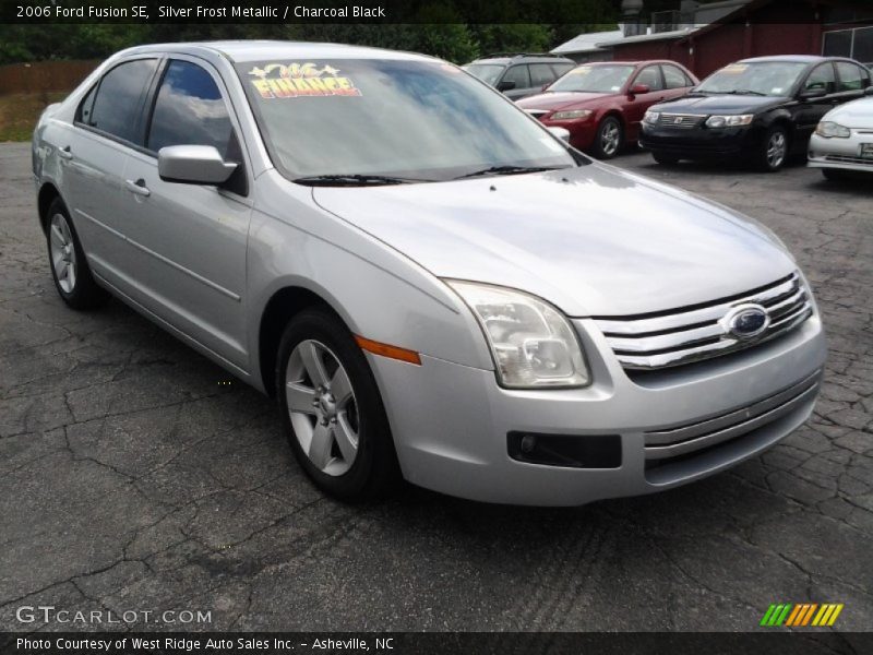
[[[766,228],[601,164],[378,188],[313,188],[324,210],[440,277],[545,298],[571,317],[725,298],[794,270]]]

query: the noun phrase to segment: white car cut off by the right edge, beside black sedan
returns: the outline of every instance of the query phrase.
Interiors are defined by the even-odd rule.
[[[829,180],[873,172],[873,86],[865,96],[828,111],[810,139],[809,166]]]

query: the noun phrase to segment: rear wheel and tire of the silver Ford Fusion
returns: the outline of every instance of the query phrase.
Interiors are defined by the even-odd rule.
[[[109,299],[109,294],[94,282],[70,213],[60,198],[48,207],[46,246],[55,288],[68,306],[76,310],[94,309]]]

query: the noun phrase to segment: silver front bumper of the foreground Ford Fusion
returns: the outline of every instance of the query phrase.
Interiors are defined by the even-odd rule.
[[[593,321],[575,323],[595,380],[579,390],[505,390],[491,370],[429,357],[417,367],[368,355],[404,476],[473,500],[578,505],[651,493],[718,473],[776,444],[812,413],[825,361],[817,313],[779,340],[644,379],[632,378],[619,365]],[[792,398],[787,409],[752,419],[744,424],[749,430],[707,448],[680,444],[675,458],[665,461],[660,454],[654,463],[653,441],[665,433],[699,434],[701,426],[708,425],[723,429],[726,421],[742,422],[746,408],[751,413],[763,401],[769,402],[769,412],[779,393]],[[621,462],[612,468],[519,462],[507,452],[511,432],[617,436]]]

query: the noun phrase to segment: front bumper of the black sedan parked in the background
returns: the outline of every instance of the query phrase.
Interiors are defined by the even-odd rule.
[[[752,155],[762,139],[762,131],[754,126],[683,129],[644,123],[639,145],[648,151],[687,159],[736,158]]]

